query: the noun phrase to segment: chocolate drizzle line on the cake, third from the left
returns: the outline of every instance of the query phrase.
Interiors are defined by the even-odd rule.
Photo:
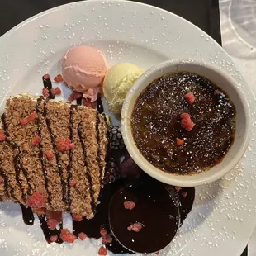
[[[65,198],[66,198],[66,183],[65,183],[64,177],[63,177],[64,176],[63,169],[62,169],[62,166],[60,164],[59,151],[56,149],[56,145],[55,145],[55,135],[53,134],[53,132],[51,130],[51,127],[50,127],[50,119],[47,118],[46,105],[47,105],[48,101],[49,101],[49,99],[46,99],[45,102],[44,102],[43,116],[45,117],[46,126],[47,126],[48,132],[50,134],[51,144],[52,144],[52,147],[53,147],[54,152],[55,152],[56,162],[57,162],[58,171],[59,171],[59,177],[60,177],[60,181],[61,181],[61,184],[62,184],[62,200],[65,201]]]

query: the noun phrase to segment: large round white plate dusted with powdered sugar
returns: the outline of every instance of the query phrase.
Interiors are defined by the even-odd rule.
[[[10,94],[40,93],[41,75],[60,73],[72,45],[103,50],[110,64],[148,69],[166,59],[205,59],[227,70],[255,102],[230,57],[205,32],[170,12],[135,2],[87,1],[57,7],[22,22],[0,39],[1,108]],[[64,97],[67,97],[65,95]],[[253,115],[254,118],[254,115]],[[160,255],[240,256],[256,225],[255,124],[244,159],[227,177],[197,187],[196,201],[178,238]],[[154,234],[153,234],[154,235]],[[0,204],[1,255],[97,255],[100,242],[46,244],[38,220],[21,220],[19,206]]]

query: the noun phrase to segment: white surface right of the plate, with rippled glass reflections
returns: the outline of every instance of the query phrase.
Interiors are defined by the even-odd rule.
[[[230,54],[256,96],[256,0],[220,0],[223,48]],[[249,256],[256,255],[256,230]]]

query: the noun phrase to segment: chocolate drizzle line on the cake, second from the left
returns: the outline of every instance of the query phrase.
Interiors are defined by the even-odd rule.
[[[36,113],[40,114],[40,102],[43,101],[43,97],[40,97],[37,99],[37,104],[36,104]],[[40,123],[40,119],[37,118],[37,133],[39,135],[39,137],[42,137],[42,126]],[[44,180],[45,180],[45,188],[46,188],[46,192],[47,192],[47,201],[49,203],[49,205],[51,206],[51,193],[49,191],[49,184],[48,184],[48,177],[47,177],[47,169],[45,168],[45,159],[44,159],[44,149],[43,146],[41,145],[41,143],[39,143],[39,158],[40,158],[40,163],[42,166],[42,170],[43,170],[43,175],[44,175]]]

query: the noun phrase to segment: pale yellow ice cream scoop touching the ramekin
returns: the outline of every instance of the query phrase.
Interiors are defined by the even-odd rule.
[[[121,113],[127,92],[142,73],[144,73],[142,69],[131,63],[116,64],[107,71],[103,82],[103,93],[111,112]]]

